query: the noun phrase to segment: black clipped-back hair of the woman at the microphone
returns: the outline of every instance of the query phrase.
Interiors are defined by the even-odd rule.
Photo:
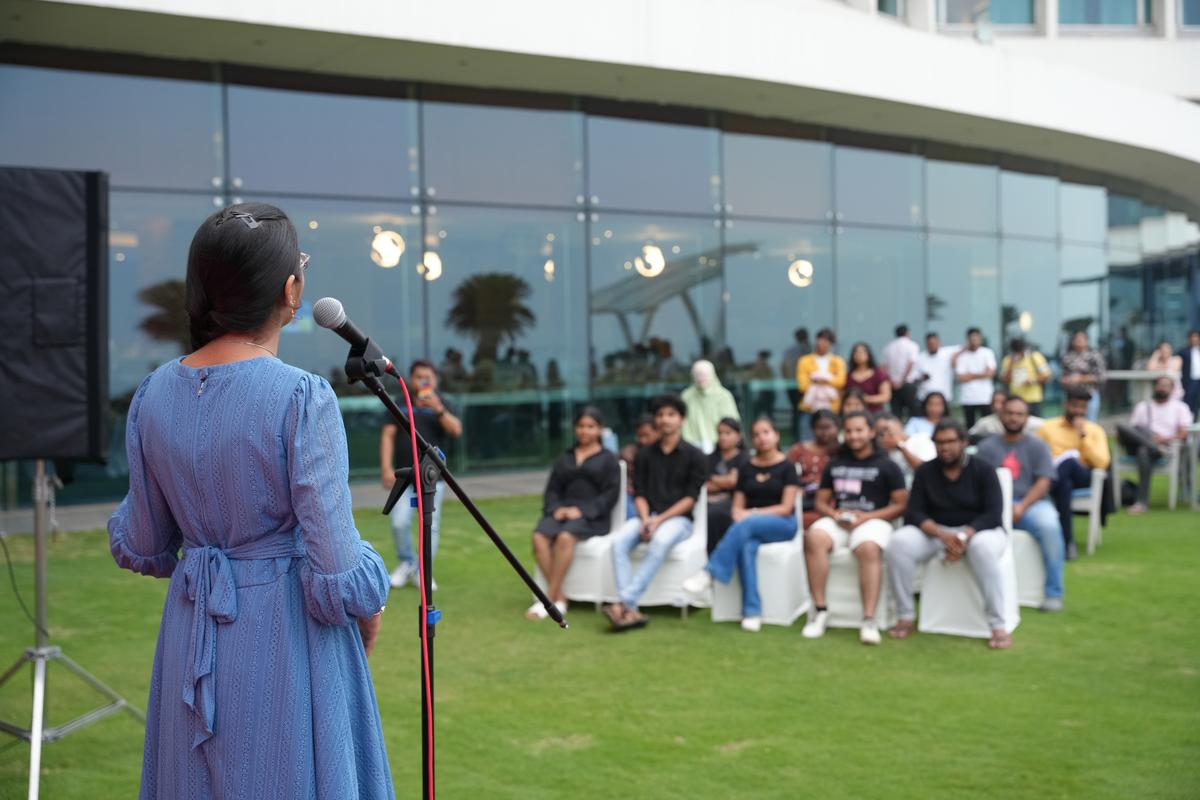
[[[280,209],[239,203],[209,215],[187,251],[184,306],[192,349],[262,329],[299,272],[300,240]]]

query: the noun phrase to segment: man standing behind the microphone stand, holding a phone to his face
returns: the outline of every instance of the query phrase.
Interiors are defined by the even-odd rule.
[[[434,447],[446,449],[450,439],[462,435],[462,422],[454,414],[452,407],[438,393],[438,373],[428,361],[416,360],[408,369],[408,391],[412,392],[413,416],[416,420],[416,432]],[[401,410],[407,409],[403,397],[396,403]],[[379,434],[379,473],[383,487],[391,489],[396,483],[396,469],[413,465],[413,445],[408,432],[401,432],[400,426],[388,417]],[[434,555],[438,552],[438,533],[442,528],[442,500],[446,485],[438,481],[433,497],[433,521],[430,531],[430,547]],[[413,487],[404,489],[400,501],[391,510],[391,537],[396,545],[396,559],[400,561],[391,571],[391,585],[400,588],[409,581],[419,582],[416,553],[413,551],[413,506],[410,499]],[[432,569],[432,565],[430,565]],[[437,581],[432,583],[437,589]]]

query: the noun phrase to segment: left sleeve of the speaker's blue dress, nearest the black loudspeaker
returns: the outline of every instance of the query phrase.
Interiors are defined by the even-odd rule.
[[[138,417],[148,375],[130,403],[125,450],[130,462],[130,492],[108,519],[108,548],[118,565],[154,578],[169,578],[179,563],[184,535],[152,471],[146,468]]]

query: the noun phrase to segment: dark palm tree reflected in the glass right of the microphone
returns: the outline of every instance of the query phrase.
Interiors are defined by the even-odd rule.
[[[516,342],[536,315],[524,305],[529,284],[509,272],[473,275],[454,290],[445,324],[478,343],[473,363],[496,361],[505,337]]]

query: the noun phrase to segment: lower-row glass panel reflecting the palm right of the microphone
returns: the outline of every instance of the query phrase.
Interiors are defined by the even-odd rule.
[[[458,468],[545,464],[587,398],[584,224],[575,212],[442,206],[426,223],[431,355],[462,356]]]

